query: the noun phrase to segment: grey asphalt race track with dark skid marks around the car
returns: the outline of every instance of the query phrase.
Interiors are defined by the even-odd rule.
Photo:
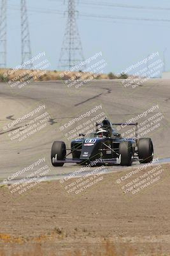
[[[67,88],[63,81],[32,83],[21,89],[10,88],[9,84],[1,83],[0,181],[3,182],[13,173],[23,170],[44,157],[45,164],[50,166],[50,172],[46,176],[56,178],[56,175],[59,175],[61,177],[63,174],[66,175],[80,169],[80,166],[75,164],[54,168],[50,163],[52,143],[55,140],[64,140],[67,141],[67,147],[69,147],[70,140],[67,140],[66,133],[73,127],[67,127],[66,131],[62,131],[60,127],[64,127],[64,124],[68,125],[74,118],[87,113],[96,106],[101,106],[101,104],[102,109],[93,113],[90,118],[103,111],[113,122],[127,122],[131,118],[141,115],[147,109],[157,106],[152,113],[139,118],[138,122],[145,122],[148,118],[160,113],[158,116],[162,116],[162,119],[160,122],[159,120],[155,122],[159,125],[148,132],[146,137],[153,140],[155,157],[160,159],[170,157],[169,92],[170,81],[164,79],[150,79],[143,86],[136,88],[125,88],[121,80],[96,80],[78,89]],[[25,120],[18,119],[39,106],[45,106],[45,109]],[[23,127],[24,124],[45,112],[50,115],[50,119],[48,118],[46,123],[42,123],[45,124],[44,127],[34,134],[29,134],[21,141],[14,138],[19,127],[22,127],[22,131],[27,129],[27,126]],[[83,122],[88,120],[89,116],[83,118]],[[74,123],[74,127],[78,124],[80,122]],[[34,169],[36,169],[35,166]],[[108,170],[117,172],[120,167],[109,166]],[[22,177],[24,176],[19,175],[17,179]]]

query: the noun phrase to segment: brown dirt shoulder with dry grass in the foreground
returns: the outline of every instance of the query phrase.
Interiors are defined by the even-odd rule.
[[[100,175],[77,194],[66,188],[76,179],[42,182],[22,196],[1,187],[1,255],[34,246],[35,255],[170,255],[169,167]],[[147,186],[146,173],[155,180]]]

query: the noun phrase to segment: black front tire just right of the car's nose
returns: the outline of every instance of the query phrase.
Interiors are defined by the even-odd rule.
[[[121,155],[120,165],[131,166],[133,161],[132,143],[130,141],[122,141],[119,145],[119,154]]]

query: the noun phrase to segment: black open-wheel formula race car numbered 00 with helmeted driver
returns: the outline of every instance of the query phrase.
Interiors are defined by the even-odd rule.
[[[113,125],[135,125],[135,138],[122,138]],[[68,158],[69,155],[72,157]],[[53,142],[51,159],[53,166],[63,166],[64,163],[131,166],[133,161],[152,162],[153,143],[150,138],[138,139],[138,123],[111,124],[109,120],[104,119],[101,124],[96,123],[96,131],[91,133],[89,138],[85,138],[85,134],[80,134],[80,138],[71,141],[69,149],[66,148],[64,141]]]

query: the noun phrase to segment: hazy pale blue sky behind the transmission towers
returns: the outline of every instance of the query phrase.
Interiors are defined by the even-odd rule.
[[[62,0],[27,0],[32,56],[45,51],[52,64],[52,70],[57,70],[66,27],[67,14],[65,13],[64,16],[64,10],[67,8],[67,1],[65,2],[64,4]],[[141,6],[141,8],[108,6],[107,3]],[[142,6],[149,8],[146,10]],[[159,8],[154,10],[155,7],[169,8],[169,10]],[[169,0],[80,0],[77,10],[80,12],[77,23],[84,56],[89,58],[96,52],[103,52],[103,58],[108,63],[106,72],[125,70],[152,52],[158,51],[162,58],[162,52],[166,48],[166,70],[170,70]],[[103,19],[84,17],[81,13],[104,17],[167,19],[169,22]],[[8,0],[8,67],[20,64],[20,45],[20,1]]]

